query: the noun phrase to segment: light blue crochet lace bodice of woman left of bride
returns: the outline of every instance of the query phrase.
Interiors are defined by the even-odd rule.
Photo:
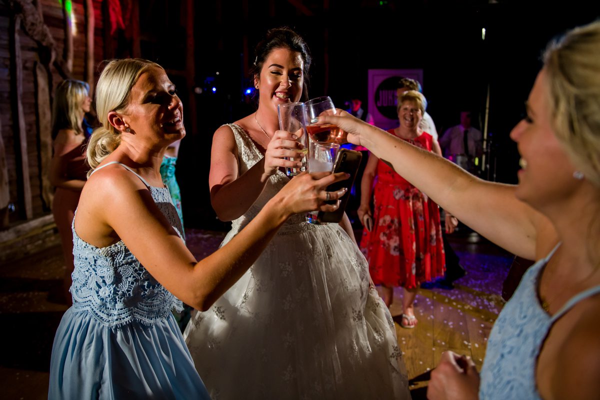
[[[181,237],[181,220],[171,202],[169,189],[151,187],[142,181],[158,209]],[[182,311],[181,300],[158,283],[122,241],[104,248],[92,246],[77,235],[73,224],[73,254],[74,311],[89,312],[109,327],[133,321],[151,325],[169,316],[173,308]]]

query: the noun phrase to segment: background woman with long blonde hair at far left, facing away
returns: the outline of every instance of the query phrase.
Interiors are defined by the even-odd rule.
[[[71,303],[69,288],[73,273],[73,234],[71,222],[89,167],[85,163],[85,146],[89,133],[84,124],[85,113],[91,112],[89,85],[67,79],[56,86],[52,110],[54,154],[50,161],[50,183],[56,187],[52,214],[61,236],[65,259],[64,300]]]

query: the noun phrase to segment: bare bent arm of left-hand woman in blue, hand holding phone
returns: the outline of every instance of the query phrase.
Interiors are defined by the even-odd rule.
[[[98,247],[123,240],[167,290],[202,310],[208,309],[254,263],[288,216],[337,209],[338,204],[325,204],[325,188],[347,179],[344,173],[296,176],[227,245],[197,263],[147,188],[132,176],[119,167],[92,176],[77,211],[77,233]],[[337,200],[344,193],[346,190],[332,192],[330,198]]]

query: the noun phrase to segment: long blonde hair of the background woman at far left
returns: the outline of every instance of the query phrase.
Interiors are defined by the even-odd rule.
[[[56,139],[61,129],[72,129],[77,135],[83,133],[85,113],[82,104],[88,94],[88,83],[80,80],[65,79],[56,86],[52,106],[52,139]]]

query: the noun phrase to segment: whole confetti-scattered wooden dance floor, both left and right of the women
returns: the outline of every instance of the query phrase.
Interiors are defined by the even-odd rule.
[[[198,259],[206,257],[224,233],[186,230]],[[467,275],[452,290],[419,290],[414,329],[400,327],[401,288],[391,306],[413,399],[425,399],[429,379],[445,350],[473,357],[481,367],[491,327],[502,309],[502,282],[512,255],[477,237],[454,235],[452,247]],[[50,350],[67,306],[56,301],[61,287],[62,253],[52,247],[0,264],[0,387],[2,399],[47,399]]]

